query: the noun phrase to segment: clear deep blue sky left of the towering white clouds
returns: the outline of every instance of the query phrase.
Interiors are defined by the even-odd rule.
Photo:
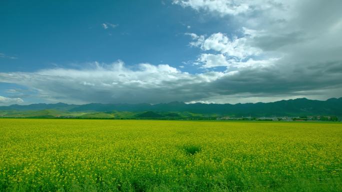
[[[127,65],[149,62],[176,67],[199,54],[188,46],[190,38],[184,33],[230,30],[221,19],[198,19],[200,13],[160,0],[8,0],[1,3],[0,12],[5,29],[1,52],[18,58],[1,59],[3,72],[117,59]]]

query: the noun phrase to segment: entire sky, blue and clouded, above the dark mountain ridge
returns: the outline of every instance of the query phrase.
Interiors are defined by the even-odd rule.
[[[342,96],[341,0],[1,0],[0,105]]]

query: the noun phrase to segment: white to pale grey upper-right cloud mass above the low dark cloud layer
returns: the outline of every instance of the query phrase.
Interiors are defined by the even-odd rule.
[[[224,32],[209,37],[188,33],[193,39],[190,45],[204,51],[198,58],[202,61],[200,67],[234,66],[239,70],[251,66],[273,67],[290,76],[294,71],[307,72],[320,65],[328,68],[333,65],[336,70],[332,71],[340,73],[342,65],[336,63],[342,62],[342,12],[337,7],[342,6],[342,1],[175,0],[174,3],[229,17],[227,22],[233,21],[231,26],[236,27],[229,31],[241,32],[237,37]],[[237,8],[240,5],[248,8],[240,11]],[[211,59],[206,59],[207,54]]]

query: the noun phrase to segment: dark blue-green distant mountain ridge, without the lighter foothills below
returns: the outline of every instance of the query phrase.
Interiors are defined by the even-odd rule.
[[[221,114],[235,116],[308,116],[308,115],[342,115],[342,97],[326,101],[306,98],[281,100],[270,103],[237,104],[185,104],[182,102],[160,104],[100,104],[90,103],[73,105],[65,103],[31,104],[0,106],[0,111],[39,111],[58,110],[67,112],[190,112],[198,114]]]

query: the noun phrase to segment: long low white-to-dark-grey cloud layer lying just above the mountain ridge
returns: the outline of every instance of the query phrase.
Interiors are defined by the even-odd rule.
[[[233,103],[247,96],[278,99],[298,95],[336,97],[341,88],[341,72],[336,72],[335,67],[338,63],[291,73],[274,67],[245,67],[190,74],[167,64],[125,66],[122,61],[111,64],[94,62],[91,67],[82,69],[0,73],[0,82],[28,87],[34,90],[35,97],[51,103]],[[334,73],[326,78],[322,68]],[[320,91],[315,92],[317,90]]]

